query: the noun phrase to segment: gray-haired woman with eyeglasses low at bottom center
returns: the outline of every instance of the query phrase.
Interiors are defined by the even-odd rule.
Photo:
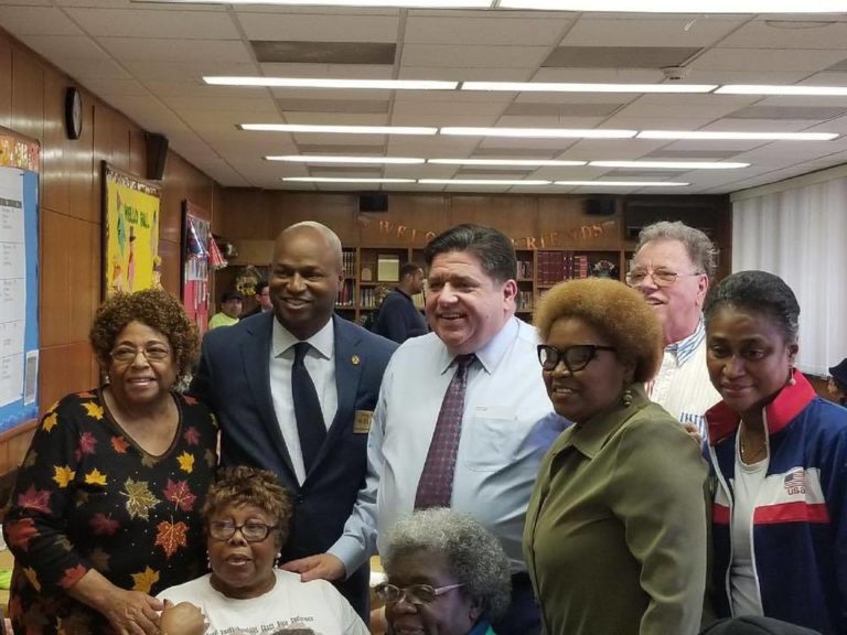
[[[376,588],[395,635],[494,635],[511,598],[497,539],[470,516],[432,507],[393,527]]]

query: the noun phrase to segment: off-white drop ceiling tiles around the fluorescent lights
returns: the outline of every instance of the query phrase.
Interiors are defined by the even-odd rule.
[[[266,187],[280,186],[281,172],[291,165],[261,161],[265,149],[278,153],[298,147],[349,146],[385,148],[388,154],[421,157],[484,155],[492,149],[500,154],[519,151],[526,158],[636,159],[668,153],[715,152],[738,157],[749,154],[760,162],[755,170],[766,175],[804,171],[807,165],[825,166],[844,160],[840,146],[827,143],[785,144],[762,142],[668,142],[662,140],[544,140],[497,138],[411,138],[329,134],[270,134],[235,130],[249,115],[254,121],[377,122],[382,115],[312,112],[286,110],[277,99],[350,99],[345,92],[267,90],[210,87],[200,83],[204,73],[247,74],[257,72],[300,76],[345,76],[449,79],[514,80],[626,80],[658,82],[656,68],[542,68],[549,52],[560,45],[572,46],[666,46],[706,47],[693,63],[686,79],[696,83],[823,83],[847,85],[847,73],[830,71],[847,60],[847,22],[837,20],[817,29],[774,29],[761,18],[709,17],[695,20],[688,31],[688,17],[637,18],[600,14],[557,14],[534,12],[407,11],[405,28],[398,31],[401,12],[396,10],[333,10],[237,7],[159,7],[111,0],[56,0],[66,8],[40,7],[42,2],[18,0],[10,7],[0,0],[0,26],[21,37],[39,53],[66,69],[86,77],[95,92],[119,105],[139,121],[161,122],[172,139],[172,147],[183,148],[190,161],[210,165],[215,174],[228,174],[239,183],[245,180]],[[11,11],[10,11],[11,9]],[[12,15],[13,11],[26,11]],[[79,30],[94,35],[78,35]],[[200,24],[200,28],[197,28]],[[237,29],[236,29],[237,26]],[[28,32],[29,31],[29,32]],[[815,36],[817,32],[819,36]],[[399,33],[399,34],[398,34]],[[400,63],[390,66],[309,64],[257,65],[245,39],[301,39],[350,42],[397,42],[403,49]],[[461,44],[458,44],[461,42]],[[717,47],[709,49],[717,44]],[[743,49],[743,51],[742,51]],[[110,58],[110,56],[112,58]],[[127,74],[130,74],[128,76]],[[334,93],[330,96],[329,93]],[[847,110],[847,99],[839,98],[761,98],[757,96],[633,96],[633,95],[556,95],[529,93],[386,93],[355,92],[365,99],[393,99],[394,125],[467,126],[568,126],[603,128],[682,128],[738,130],[845,131],[847,117],[830,121],[797,119],[738,119],[729,117],[747,106],[832,107],[819,115]],[[355,97],[361,98],[361,97]],[[538,108],[537,116],[524,110],[510,116],[517,104],[598,104],[608,105],[610,115],[597,117],[556,117]],[[621,105],[620,108],[617,108]],[[589,109],[590,110],[590,109]],[[529,108],[532,111],[532,108]],[[765,111],[766,112],[766,111]],[[779,112],[779,110],[774,111]],[[585,114],[590,115],[588,110]],[[242,118],[242,119],[239,119]],[[664,123],[663,126],[658,126]],[[167,128],[172,127],[172,131]],[[223,130],[219,128],[224,128]],[[170,133],[169,133],[170,132]],[[837,142],[836,142],[837,143]],[[261,148],[261,152],[258,152]],[[280,150],[282,149],[282,150]],[[221,157],[202,157],[217,152]],[[528,153],[528,154],[527,154]],[[194,154],[194,157],[192,157]],[[225,158],[225,159],[224,159]],[[783,166],[783,161],[797,163]],[[237,168],[227,166],[230,162]],[[251,168],[250,168],[251,166]],[[384,173],[410,173],[420,166],[392,166]],[[435,165],[426,165],[427,175]],[[454,173],[457,166],[439,166],[441,173]],[[238,171],[250,174],[235,176]],[[305,172],[302,166],[299,171]],[[570,171],[570,170],[569,170]],[[580,172],[575,169],[573,173]],[[542,174],[539,170],[534,174]],[[733,175],[688,173],[693,190],[715,190],[721,183],[750,182],[752,170]],[[761,177],[768,177],[763,175]],[[793,174],[792,174],[793,175]],[[227,184],[226,181],[222,181]],[[560,190],[556,190],[560,191]]]

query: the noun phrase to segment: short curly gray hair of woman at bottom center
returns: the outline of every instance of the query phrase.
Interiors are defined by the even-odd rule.
[[[446,507],[418,510],[395,524],[387,542],[382,559],[388,575],[404,557],[439,553],[457,581],[465,584],[463,590],[480,603],[485,618],[505,614],[512,593],[508,558],[500,541],[471,516]]]

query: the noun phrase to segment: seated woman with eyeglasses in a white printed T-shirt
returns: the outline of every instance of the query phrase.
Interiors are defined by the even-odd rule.
[[[275,567],[291,513],[291,499],[272,472],[247,466],[222,470],[203,506],[212,572],[159,594],[174,604],[162,612],[162,635],[367,635],[362,620],[331,583],[300,582],[298,573]],[[197,611],[207,628],[196,627],[202,624]]]

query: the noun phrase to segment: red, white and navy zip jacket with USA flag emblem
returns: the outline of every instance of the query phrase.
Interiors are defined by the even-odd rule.
[[[847,634],[847,409],[821,399],[805,377],[764,408],[770,463],[750,535],[764,615],[824,634]],[[731,518],[739,416],[706,412],[712,489],[715,610],[732,614]]]

